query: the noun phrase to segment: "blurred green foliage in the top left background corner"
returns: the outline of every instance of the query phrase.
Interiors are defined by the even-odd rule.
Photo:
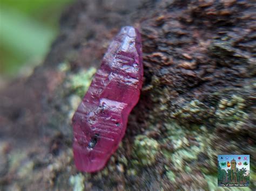
[[[73,0],[0,0],[0,74],[15,75],[49,51],[58,20]]]

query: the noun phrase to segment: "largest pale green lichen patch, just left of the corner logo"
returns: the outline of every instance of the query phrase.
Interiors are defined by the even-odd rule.
[[[175,169],[178,171],[193,171],[193,166],[190,165],[192,161],[198,160],[198,156],[201,153],[207,153],[208,157],[205,162],[214,166],[215,160],[214,151],[211,148],[212,136],[209,135],[205,126],[191,125],[190,128],[178,125],[172,121],[164,124],[168,137],[163,139],[163,143],[169,143],[172,145],[173,150],[168,151],[162,149],[160,152],[164,158],[169,160]],[[193,137],[193,143],[190,143],[187,137]],[[204,168],[204,166],[201,166]],[[210,173],[211,168],[206,169],[206,173]]]

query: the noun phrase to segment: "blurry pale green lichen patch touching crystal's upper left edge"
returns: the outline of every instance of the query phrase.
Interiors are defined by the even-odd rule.
[[[89,88],[92,77],[96,73],[96,68],[91,67],[87,70],[81,70],[77,74],[70,76],[71,89],[75,90],[79,97],[83,97]]]

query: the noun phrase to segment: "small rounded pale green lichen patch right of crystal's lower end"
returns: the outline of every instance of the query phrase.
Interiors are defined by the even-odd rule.
[[[137,160],[133,164],[152,165],[156,161],[159,152],[159,143],[157,140],[139,135],[134,140],[133,155]]]

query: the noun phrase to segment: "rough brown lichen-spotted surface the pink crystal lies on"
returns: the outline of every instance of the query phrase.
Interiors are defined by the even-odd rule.
[[[43,65],[0,90],[0,189],[215,190],[223,153],[251,155],[255,189],[255,10],[253,1],[75,2]],[[71,116],[126,25],[142,34],[140,101],[103,171],[80,174]]]

